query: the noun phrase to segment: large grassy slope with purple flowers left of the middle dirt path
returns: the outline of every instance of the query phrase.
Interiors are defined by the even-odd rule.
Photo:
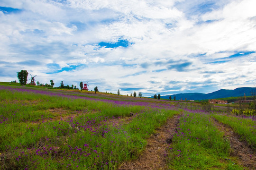
[[[0,94],[1,120],[8,119],[0,124],[2,169],[117,169],[136,159],[155,128],[178,114],[15,90]],[[49,111],[58,108],[65,113]]]

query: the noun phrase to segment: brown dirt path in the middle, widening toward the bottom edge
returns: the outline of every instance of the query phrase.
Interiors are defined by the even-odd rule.
[[[155,134],[147,140],[144,153],[135,161],[124,162],[119,170],[167,170],[166,148],[171,142],[170,137],[174,134],[179,117],[174,115],[164,126],[156,129]]]

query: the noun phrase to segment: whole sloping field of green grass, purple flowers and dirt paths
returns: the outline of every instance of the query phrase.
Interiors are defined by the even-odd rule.
[[[226,111],[0,85],[0,169],[256,169],[254,117]]]

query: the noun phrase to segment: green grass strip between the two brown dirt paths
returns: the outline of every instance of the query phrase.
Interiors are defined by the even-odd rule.
[[[239,170],[231,166],[229,141],[213,126],[210,115],[184,113],[169,148],[169,168],[174,170]]]

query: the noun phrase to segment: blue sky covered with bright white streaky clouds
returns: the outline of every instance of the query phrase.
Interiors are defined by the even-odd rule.
[[[256,0],[0,0],[0,81],[143,96],[256,87]],[[28,80],[28,83],[30,80]]]

